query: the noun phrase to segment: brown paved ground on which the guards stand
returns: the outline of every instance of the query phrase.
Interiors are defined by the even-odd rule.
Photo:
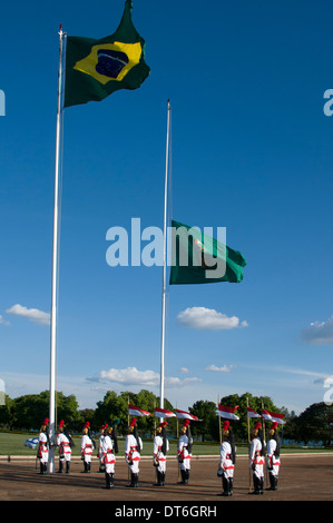
[[[98,472],[97,458],[91,473],[82,473],[82,462],[74,460],[70,474],[40,475],[36,462],[16,460],[0,462],[0,501],[114,501],[123,502],[187,502],[192,504],[221,504],[236,501],[333,501],[333,454],[282,456],[281,477],[276,492],[249,494],[248,462],[237,458],[234,495],[222,497],[217,477],[218,460],[194,458],[188,485],[179,485],[178,467],[174,458],[167,462],[166,485],[157,487],[151,460],[141,460],[139,487],[128,489],[127,465],[119,456],[116,464],[115,487],[104,490],[104,474]],[[38,465],[37,465],[38,466]],[[55,467],[58,470],[58,466]],[[16,505],[17,506],[17,505]],[[26,505],[27,506],[27,505]],[[116,504],[115,504],[116,506]],[[133,504],[130,505],[133,506]]]

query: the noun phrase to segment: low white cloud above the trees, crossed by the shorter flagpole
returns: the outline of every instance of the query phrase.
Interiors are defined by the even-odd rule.
[[[140,385],[140,386],[157,386],[159,385],[159,374],[154,371],[138,371],[136,367],[127,368],[109,368],[109,371],[101,371],[99,379],[123,385]],[[178,377],[166,377],[166,387],[182,387],[195,382],[200,382],[197,377],[180,379]]]

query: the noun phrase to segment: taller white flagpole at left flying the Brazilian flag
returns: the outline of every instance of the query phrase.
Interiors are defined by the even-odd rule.
[[[55,434],[56,434],[56,361],[57,361],[57,323],[58,323],[58,255],[59,255],[59,174],[62,111],[62,26],[59,30],[59,71],[58,71],[58,106],[56,130],[56,165],[55,165],[55,208],[53,208],[53,247],[52,247],[52,297],[51,297],[51,333],[50,333],[50,403],[49,403],[49,472],[55,470]]]

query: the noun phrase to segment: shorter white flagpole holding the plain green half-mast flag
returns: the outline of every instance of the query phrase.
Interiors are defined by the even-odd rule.
[[[165,353],[165,326],[166,326],[166,258],[167,258],[167,194],[169,168],[169,135],[170,135],[170,100],[168,100],[166,159],[165,159],[165,188],[164,188],[164,238],[163,238],[163,290],[161,290],[161,344],[160,344],[160,393],[159,407],[164,408],[164,353]]]

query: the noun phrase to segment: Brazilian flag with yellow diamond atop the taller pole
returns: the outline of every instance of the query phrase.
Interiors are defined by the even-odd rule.
[[[145,40],[131,21],[126,0],[116,32],[100,40],[67,37],[63,107],[100,101],[118,89],[137,89],[148,77]]]

